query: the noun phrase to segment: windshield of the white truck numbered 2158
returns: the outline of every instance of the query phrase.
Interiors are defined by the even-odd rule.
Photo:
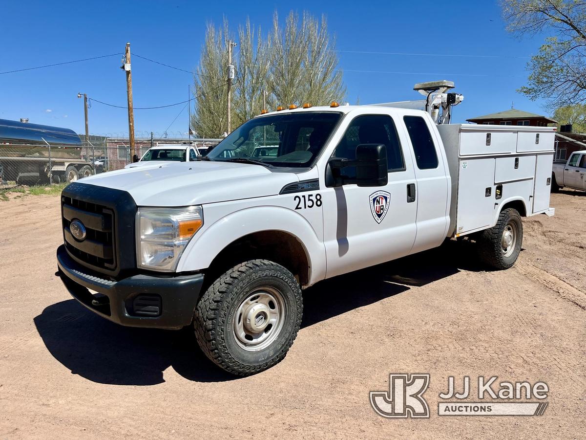
[[[212,160],[251,159],[275,167],[307,167],[317,157],[341,113],[316,111],[251,119],[208,155]]]

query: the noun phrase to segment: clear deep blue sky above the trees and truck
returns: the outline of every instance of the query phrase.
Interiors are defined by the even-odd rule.
[[[438,6],[439,5],[439,6]],[[345,71],[347,100],[361,104],[418,99],[416,82],[449,79],[465,100],[455,122],[515,108],[544,114],[543,103],[516,93],[526,82],[526,63],[543,36],[517,40],[505,31],[496,1],[28,1],[5,2],[0,33],[0,72],[69,60],[122,53],[193,70],[199,61],[205,24],[236,29],[249,16],[268,30],[276,10],[292,7],[325,14],[337,38]],[[356,53],[379,52],[379,53]],[[437,54],[389,55],[386,53]],[[121,56],[0,75],[0,118],[73,128],[84,132],[83,103],[77,92],[124,106],[126,82]],[[353,70],[368,71],[352,72]],[[188,97],[188,73],[132,58],[135,107],[161,106]],[[183,106],[136,110],[137,136],[165,131]],[[128,132],[125,109],[93,103],[90,133]],[[188,110],[169,127],[186,132]]]

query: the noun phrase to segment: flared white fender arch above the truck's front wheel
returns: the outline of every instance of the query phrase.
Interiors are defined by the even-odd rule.
[[[284,207],[251,207],[217,219],[196,233],[179,260],[178,272],[209,268],[212,260],[230,243],[254,232],[282,231],[294,236],[305,249],[309,284],[325,278],[325,247],[314,228],[298,212]]]

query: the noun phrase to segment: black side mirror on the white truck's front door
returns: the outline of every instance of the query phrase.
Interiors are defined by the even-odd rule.
[[[346,167],[355,167],[356,175],[344,175],[342,171]],[[360,144],[356,147],[356,160],[331,158],[328,163],[326,186],[356,184],[359,187],[384,187],[389,181],[387,167],[385,145]]]

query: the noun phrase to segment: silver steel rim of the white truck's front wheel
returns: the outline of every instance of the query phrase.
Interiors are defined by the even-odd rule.
[[[270,346],[285,323],[285,300],[272,287],[258,287],[236,308],[233,316],[234,340],[246,351]]]

